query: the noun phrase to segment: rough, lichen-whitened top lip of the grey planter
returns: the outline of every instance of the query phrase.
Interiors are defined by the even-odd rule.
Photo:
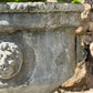
[[[58,2],[1,2],[0,12],[82,12],[82,3],[58,3]]]

